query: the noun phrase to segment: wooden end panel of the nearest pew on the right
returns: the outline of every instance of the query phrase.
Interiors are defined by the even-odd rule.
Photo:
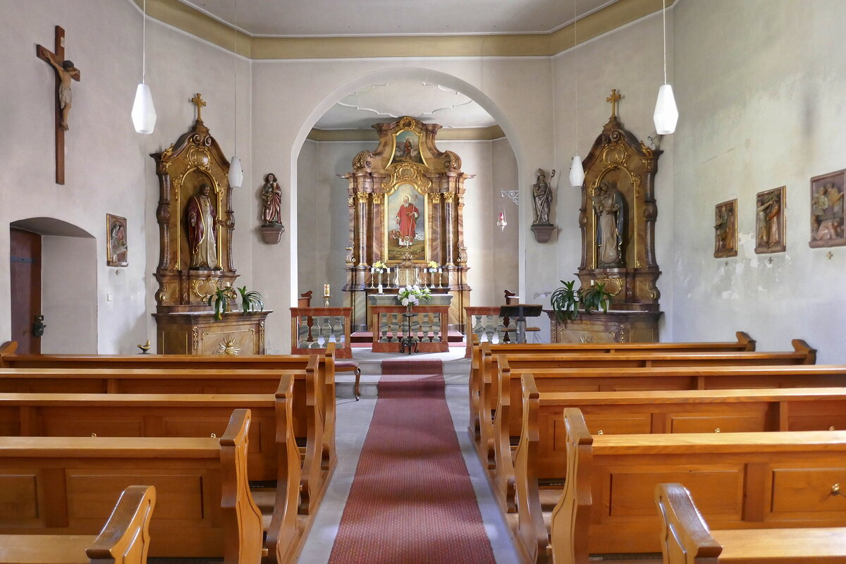
[[[717,564],[722,546],[711,536],[690,492],[681,484],[658,484],[663,564]]]

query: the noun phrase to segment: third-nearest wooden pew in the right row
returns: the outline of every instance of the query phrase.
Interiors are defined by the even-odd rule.
[[[527,561],[549,542],[541,525],[559,490],[542,486],[567,478],[564,408],[580,408],[593,435],[846,429],[846,387],[539,393],[524,375],[523,390],[513,530]]]

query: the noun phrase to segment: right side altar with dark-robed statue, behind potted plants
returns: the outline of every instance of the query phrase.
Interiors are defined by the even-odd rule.
[[[603,283],[612,294],[607,314],[559,321],[547,312],[552,342],[657,342],[661,275],[655,257],[655,174],[662,151],[646,146],[611,118],[582,162],[585,182],[579,213],[581,287]]]

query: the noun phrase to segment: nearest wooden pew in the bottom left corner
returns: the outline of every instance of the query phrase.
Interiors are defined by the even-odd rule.
[[[0,564],[145,564],[156,488],[130,485],[97,536],[0,534]]]

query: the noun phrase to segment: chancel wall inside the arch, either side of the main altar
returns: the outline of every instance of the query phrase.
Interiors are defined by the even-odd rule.
[[[349,237],[348,182],[338,175],[350,171],[353,157],[372,150],[372,142],[307,140],[298,158],[298,293],[324,283],[332,285],[332,305],[343,304],[340,288],[348,281],[340,267]],[[517,286],[517,207],[499,197],[500,186],[514,187],[517,166],[507,140],[438,141],[440,151],[461,157],[462,170],[475,174],[464,183],[464,244],[467,246],[470,302],[499,304],[503,288]],[[494,155],[496,154],[496,157]],[[496,227],[500,205],[508,205],[505,232]],[[312,301],[316,304],[316,301]]]

